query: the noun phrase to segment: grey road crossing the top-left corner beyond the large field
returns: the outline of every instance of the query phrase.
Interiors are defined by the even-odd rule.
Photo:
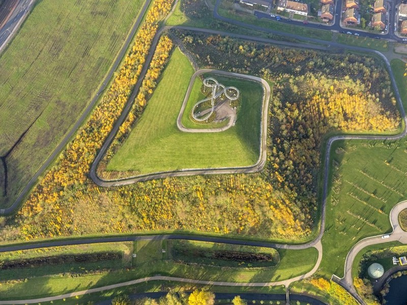
[[[17,0],[10,15],[0,24],[0,53],[7,46],[21,23],[33,8],[35,0]]]

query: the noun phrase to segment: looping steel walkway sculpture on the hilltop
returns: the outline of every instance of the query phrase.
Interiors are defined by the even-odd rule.
[[[230,103],[231,101],[237,100],[240,95],[238,88],[232,86],[225,87],[223,84],[219,83],[216,79],[212,77],[205,78],[203,80],[203,85],[205,86],[204,91],[206,90],[207,87],[209,87],[212,88],[212,93],[210,97],[200,100],[192,107],[192,117],[197,121],[205,120],[208,121],[212,113],[215,111],[215,106],[217,104],[216,102],[218,101],[219,98],[222,97],[222,95],[224,95],[224,97],[227,98],[230,101]],[[206,101],[211,101],[210,111],[202,111],[195,113],[196,107],[198,107],[200,104]]]

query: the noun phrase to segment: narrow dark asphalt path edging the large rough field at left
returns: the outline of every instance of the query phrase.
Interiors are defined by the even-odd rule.
[[[32,0],[34,1],[34,0]],[[34,176],[28,181],[28,184],[22,189],[21,193],[17,197],[17,199],[13,202],[13,204],[5,209],[0,209],[0,215],[11,215],[16,210],[18,207],[21,205],[22,201],[26,198],[27,194],[31,191],[31,189],[37,184],[38,178],[40,175],[44,173],[44,171],[48,168],[48,166],[53,162],[53,160],[61,154],[61,151],[65,149],[66,145],[68,142],[71,140],[73,135],[76,133],[76,131],[79,129],[80,126],[83,125],[84,120],[88,115],[91,113],[92,109],[94,108],[96,102],[99,100],[99,95],[103,93],[103,91],[106,89],[106,86],[109,84],[109,81],[111,77],[113,76],[113,73],[117,70],[119,67],[119,64],[121,63],[124,55],[126,54],[127,48],[129,47],[130,43],[133,41],[133,37],[137,31],[138,26],[140,25],[142,18],[144,16],[144,13],[146,13],[149,5],[150,5],[151,0],[147,1],[144,6],[142,7],[139,16],[137,17],[136,22],[134,23],[130,34],[128,35],[125,43],[122,46],[122,49],[120,50],[117,58],[114,60],[113,65],[111,66],[109,72],[107,73],[105,79],[103,80],[103,83],[99,87],[99,90],[97,91],[97,94],[93,97],[91,103],[86,107],[86,109],[83,111],[82,115],[79,117],[79,119],[76,121],[75,125],[72,127],[72,129],[65,135],[65,137],[62,139],[60,144],[56,146],[56,148],[53,150],[52,154],[47,158],[47,160],[43,163],[43,165],[37,170],[37,172],[34,174]],[[21,18],[21,16],[20,16]],[[20,23],[23,20],[23,18],[19,19]]]

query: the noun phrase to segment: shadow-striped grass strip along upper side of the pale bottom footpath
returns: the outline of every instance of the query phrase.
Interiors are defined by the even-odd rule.
[[[91,287],[100,287],[114,283],[134,280],[154,275],[168,275],[189,279],[226,281],[226,282],[269,282],[279,281],[301,275],[314,266],[317,251],[314,248],[305,250],[279,250],[281,261],[273,268],[230,268],[177,264],[165,258],[159,259],[163,245],[161,241],[137,241],[137,254],[142,254],[143,263],[134,268],[120,269],[102,275],[89,275],[80,278],[68,276],[43,276],[27,278],[18,283],[0,285],[0,299],[36,298],[78,291]],[[150,259],[149,259],[150,254]],[[137,255],[137,256],[138,256]],[[168,283],[169,284],[169,283]],[[223,291],[232,292],[234,288],[223,287]],[[250,290],[250,288],[246,288]],[[243,290],[243,289],[242,289]],[[263,291],[274,290],[265,288]]]

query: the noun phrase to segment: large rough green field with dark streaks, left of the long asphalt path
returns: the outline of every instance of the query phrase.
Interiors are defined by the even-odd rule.
[[[0,57],[0,176],[10,205],[96,93],[143,1],[43,0]],[[46,20],[46,22],[44,22]]]

